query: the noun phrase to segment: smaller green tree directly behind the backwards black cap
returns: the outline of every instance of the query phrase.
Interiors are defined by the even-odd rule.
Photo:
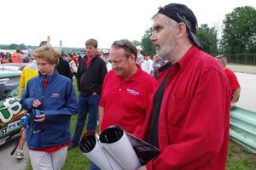
[[[207,24],[201,25],[197,29],[197,37],[201,41],[203,50],[208,54],[218,54],[217,30],[208,27]]]

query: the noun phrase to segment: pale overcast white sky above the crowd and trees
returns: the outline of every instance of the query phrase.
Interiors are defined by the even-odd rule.
[[[256,0],[1,0],[0,44],[38,46],[48,36],[55,47],[61,40],[62,47],[84,48],[89,38],[99,48],[122,38],[141,42],[151,17],[168,3],[191,8],[198,26],[218,28],[234,8],[256,8]]]

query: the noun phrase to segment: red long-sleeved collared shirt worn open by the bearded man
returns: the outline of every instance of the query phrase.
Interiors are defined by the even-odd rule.
[[[224,170],[229,143],[230,82],[218,61],[195,46],[171,69],[163,95],[158,141],[160,156],[147,169]],[[153,96],[154,96],[153,94]],[[153,102],[143,127],[148,140]]]

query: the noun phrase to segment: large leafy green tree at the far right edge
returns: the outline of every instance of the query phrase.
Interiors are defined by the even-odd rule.
[[[256,54],[256,9],[235,8],[224,18],[221,40],[224,54]]]

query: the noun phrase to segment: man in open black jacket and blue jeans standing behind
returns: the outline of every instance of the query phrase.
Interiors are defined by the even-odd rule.
[[[102,84],[107,74],[107,67],[100,55],[97,54],[98,42],[89,39],[85,42],[86,55],[79,60],[79,115],[76,123],[73,143],[68,150],[79,145],[86,116],[89,113],[87,130],[96,130],[99,100],[102,94]]]

